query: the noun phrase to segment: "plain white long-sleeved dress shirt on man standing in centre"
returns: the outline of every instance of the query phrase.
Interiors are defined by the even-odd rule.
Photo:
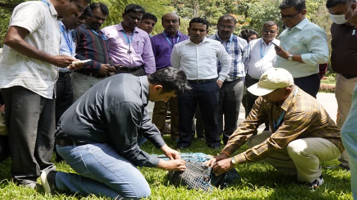
[[[221,72],[217,73],[217,58],[221,63]],[[203,38],[200,44],[188,40],[175,44],[171,53],[171,66],[186,73],[187,80],[217,78],[225,81],[229,76],[231,56],[221,42]]]

